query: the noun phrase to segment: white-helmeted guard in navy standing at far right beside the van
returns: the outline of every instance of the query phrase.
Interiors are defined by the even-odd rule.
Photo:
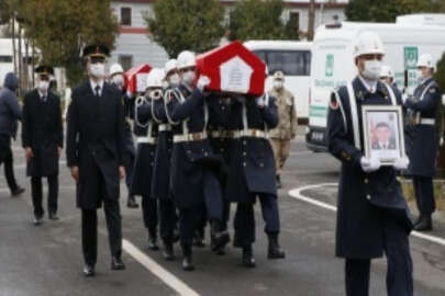
[[[418,77],[420,86],[414,90],[414,98],[405,101],[404,105],[412,114],[407,129],[411,134],[409,145],[410,168],[413,178],[415,201],[420,217],[414,224],[419,231],[433,230],[432,215],[435,210],[433,177],[437,156],[437,139],[435,133],[435,118],[441,93],[434,81],[433,58],[422,55],[418,62]]]

